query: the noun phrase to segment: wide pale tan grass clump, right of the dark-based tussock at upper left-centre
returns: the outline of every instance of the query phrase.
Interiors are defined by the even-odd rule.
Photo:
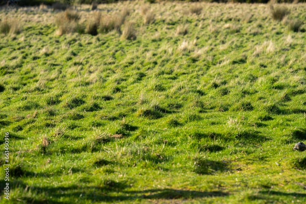
[[[124,20],[125,17],[118,14],[103,16],[100,20],[99,33],[107,33],[113,30],[120,31]]]

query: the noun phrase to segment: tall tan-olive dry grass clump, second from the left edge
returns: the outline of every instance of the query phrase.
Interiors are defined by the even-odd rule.
[[[79,19],[79,14],[72,10],[59,13],[55,18],[55,24],[58,27],[57,34],[63,35],[78,32],[80,30],[80,25],[78,24]]]

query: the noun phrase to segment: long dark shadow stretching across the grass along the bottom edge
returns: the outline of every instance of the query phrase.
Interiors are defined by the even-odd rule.
[[[1,182],[1,187],[4,187]],[[21,182],[14,183],[12,189],[27,188],[32,192],[37,193],[37,196],[29,197],[26,195],[18,195],[19,201],[25,201],[27,203],[71,203],[63,201],[63,198],[69,198],[72,200],[82,200],[86,202],[119,202],[119,201],[133,201],[140,199],[192,199],[192,198],[207,198],[215,196],[228,196],[229,193],[222,191],[190,191],[190,190],[177,190],[177,189],[149,189],[144,191],[129,191],[127,190],[130,185],[125,182],[116,182],[113,180],[105,180],[101,182],[99,186],[87,186],[80,187],[72,185],[69,187],[27,187],[27,184]],[[40,194],[48,194],[50,196],[43,197]],[[117,195],[114,195],[117,193]],[[35,198],[36,197],[36,198]],[[12,198],[15,199],[15,198]],[[13,200],[12,200],[13,201]]]

